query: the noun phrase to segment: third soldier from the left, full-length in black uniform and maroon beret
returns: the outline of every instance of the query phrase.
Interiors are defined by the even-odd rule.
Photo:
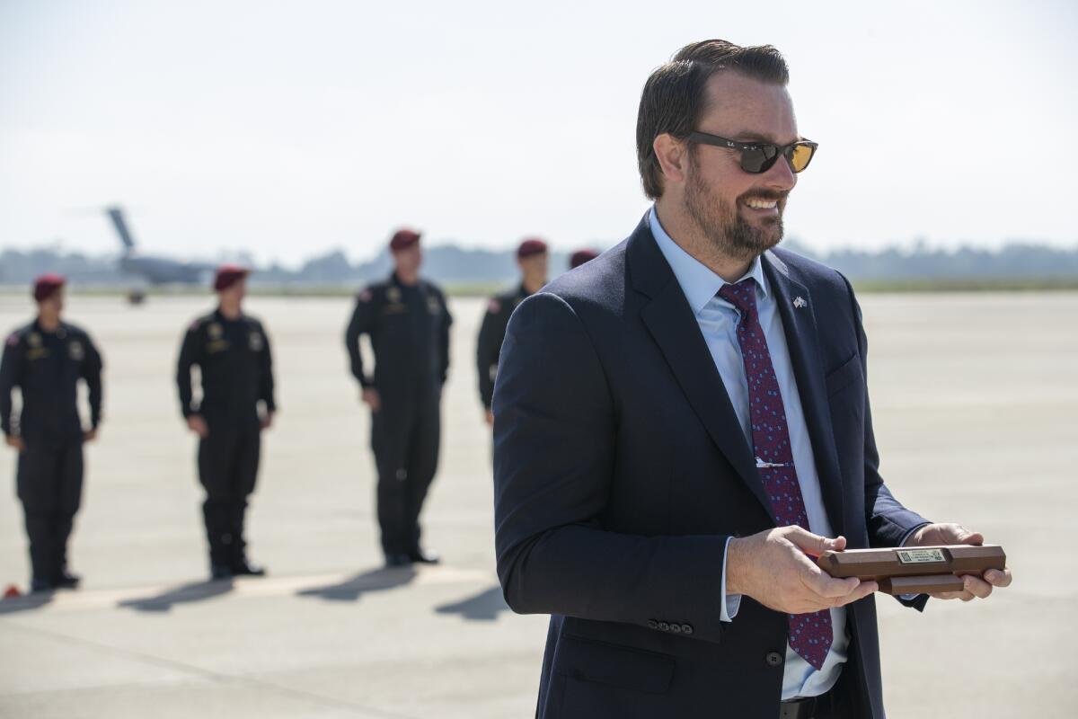
[[[400,230],[389,244],[396,269],[359,293],[345,332],[351,373],[371,407],[378,471],[378,524],[386,564],[434,564],[419,544],[419,512],[438,469],[442,385],[450,369],[445,295],[419,277],[419,235]],[[374,375],[363,370],[359,337],[370,335]]]

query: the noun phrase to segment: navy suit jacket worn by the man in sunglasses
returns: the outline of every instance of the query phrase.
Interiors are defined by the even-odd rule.
[[[763,266],[831,526],[852,549],[897,545],[925,520],[877,471],[853,290],[785,250]],[[538,716],[775,719],[787,619],[744,597],[720,622],[719,603],[727,538],[776,523],[647,218],[520,305],[494,414],[498,577],[514,611],[551,614]],[[879,719],[873,598],[847,618],[842,683]]]

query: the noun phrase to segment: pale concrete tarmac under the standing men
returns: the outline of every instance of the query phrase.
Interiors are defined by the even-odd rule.
[[[1078,293],[861,299],[883,473],[909,507],[1004,544],[987,602],[877,597],[893,717],[1054,717],[1078,705]],[[207,582],[176,352],[209,298],[71,296],[106,361],[71,565],[79,592],[0,602],[0,717],[528,717],[545,617],[494,575],[490,443],[474,377],[484,302],[452,301],[442,462],[424,516],[444,565],[385,570],[344,299],[252,298],[280,414],[250,510],[262,580]],[[0,332],[31,303],[0,295]],[[0,454],[0,589],[28,578]]]

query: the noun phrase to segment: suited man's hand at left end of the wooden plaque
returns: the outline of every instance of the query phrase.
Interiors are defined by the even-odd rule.
[[[875,592],[877,584],[856,577],[835,579],[808,557],[845,548],[845,537],[828,539],[797,526],[732,539],[727,550],[727,594],[747,594],[788,614],[857,602]]]

